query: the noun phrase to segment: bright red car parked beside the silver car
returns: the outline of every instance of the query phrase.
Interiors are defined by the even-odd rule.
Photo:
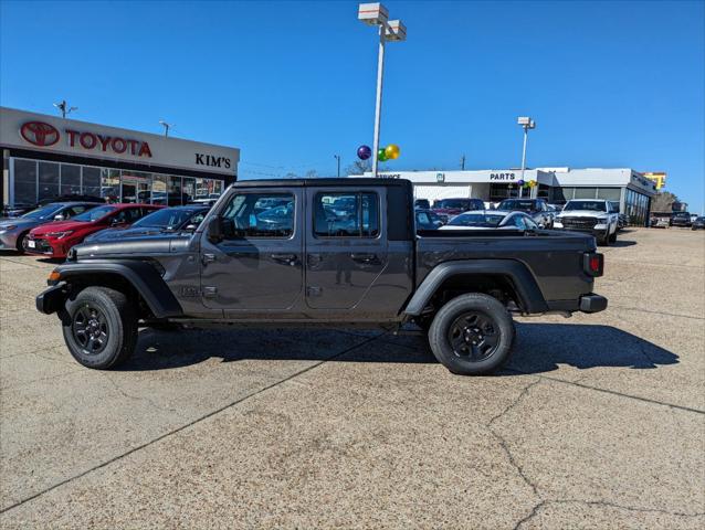
[[[164,206],[157,204],[106,204],[88,210],[70,221],[42,224],[30,232],[24,251],[49,257],[66,257],[72,246],[99,230],[129,226],[138,219]]]

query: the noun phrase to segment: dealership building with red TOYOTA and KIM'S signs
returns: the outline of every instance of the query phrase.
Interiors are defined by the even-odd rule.
[[[219,194],[240,149],[0,107],[0,205],[86,194],[170,204]]]

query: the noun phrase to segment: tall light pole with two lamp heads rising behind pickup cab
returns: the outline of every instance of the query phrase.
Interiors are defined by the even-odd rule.
[[[372,141],[372,177],[377,177],[377,155],[379,152],[379,127],[382,114],[382,81],[385,77],[385,43],[406,41],[407,26],[401,20],[388,20],[389,11],[379,2],[360,3],[358,20],[368,25],[377,25],[379,32],[379,52],[377,55],[377,97],[375,99],[375,139]]]

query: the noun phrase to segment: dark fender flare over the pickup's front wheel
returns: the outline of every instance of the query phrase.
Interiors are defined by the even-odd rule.
[[[183,315],[181,305],[157,269],[147,262],[139,259],[91,259],[60,265],[55,272],[60,274],[61,282],[69,284],[71,284],[72,278],[96,274],[120,276],[139,293],[155,317],[169,318]]]

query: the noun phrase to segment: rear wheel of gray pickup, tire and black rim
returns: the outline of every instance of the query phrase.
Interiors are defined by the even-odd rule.
[[[514,322],[492,296],[472,293],[445,304],[429,330],[435,358],[452,373],[482,375],[504,365],[512,354]]]

